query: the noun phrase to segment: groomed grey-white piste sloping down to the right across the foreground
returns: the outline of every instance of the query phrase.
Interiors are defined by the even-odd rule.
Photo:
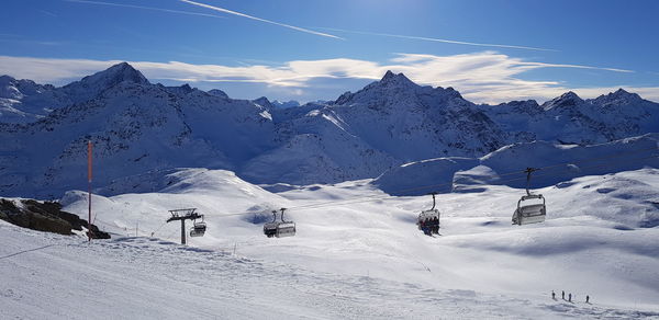
[[[581,302],[317,273],[156,238],[88,243],[8,224],[0,230],[0,273],[12,275],[0,292],[4,319],[659,318]],[[42,243],[51,244],[24,250]],[[25,252],[7,255],[14,251]]]

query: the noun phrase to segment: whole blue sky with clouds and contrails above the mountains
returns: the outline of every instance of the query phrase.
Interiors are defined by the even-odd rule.
[[[404,72],[474,102],[623,87],[659,100],[659,1],[4,0],[0,73],[56,85],[129,61],[230,96],[336,99]]]

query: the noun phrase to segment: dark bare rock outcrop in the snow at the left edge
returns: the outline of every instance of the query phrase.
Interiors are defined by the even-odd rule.
[[[22,199],[19,207],[13,201],[0,198],[0,219],[19,227],[59,235],[72,235],[71,229],[82,230],[87,220],[62,210],[62,205],[55,202],[40,203],[34,199]],[[91,238],[110,239],[110,235],[91,225]]]

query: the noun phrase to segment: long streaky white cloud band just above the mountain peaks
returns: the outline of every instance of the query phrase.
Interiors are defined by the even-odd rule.
[[[0,75],[10,75],[20,79],[32,79],[41,83],[65,84],[83,76],[103,70],[119,60],[100,61],[89,59],[45,59],[29,57],[0,56]],[[555,65],[525,61],[492,52],[473,53],[453,56],[435,56],[418,54],[398,54],[384,64],[336,58],[322,60],[294,60],[276,67],[266,65],[222,66],[192,65],[179,61],[152,62],[132,61],[148,79],[157,81],[190,82],[193,85],[263,85],[268,90],[286,92],[305,92],[313,99],[332,99],[345,90],[356,91],[360,88],[335,85],[340,79],[378,80],[387,70],[404,72],[411,80],[424,85],[453,87],[468,100],[477,103],[499,103],[512,100],[535,99],[540,102],[574,91],[583,98],[594,98],[615,91],[617,87],[578,88],[569,87],[559,80],[544,81],[524,80],[524,72],[545,68],[577,68],[601,70],[606,72],[625,72],[615,68],[595,68],[579,65]],[[333,96],[313,96],[319,83],[337,87]],[[205,84],[204,84],[205,83]],[[643,98],[659,101],[659,87],[619,85],[637,92]],[[254,88],[254,87],[250,87]],[[222,87],[220,87],[222,89]],[[249,94],[261,95],[250,91]]]

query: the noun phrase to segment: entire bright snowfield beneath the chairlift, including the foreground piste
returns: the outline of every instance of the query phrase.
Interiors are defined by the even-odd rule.
[[[93,197],[111,240],[2,222],[0,318],[659,319],[657,169],[537,190],[547,221],[522,227],[511,215],[523,190],[440,194],[436,238],[414,225],[429,196],[388,196],[370,180],[271,193],[223,170],[161,179],[152,193]],[[82,192],[63,204],[87,216]],[[164,224],[183,207],[209,225],[188,247],[175,243],[179,222]],[[295,237],[261,233],[279,207]]]

